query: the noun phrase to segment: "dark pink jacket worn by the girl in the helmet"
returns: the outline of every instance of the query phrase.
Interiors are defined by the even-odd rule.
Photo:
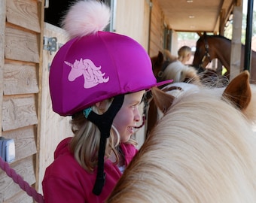
[[[110,160],[105,161],[105,186],[99,196],[93,194],[96,171],[92,174],[85,171],[69,151],[69,141],[61,141],[54,153],[53,163],[47,167],[42,182],[45,203],[65,202],[104,202],[110,195],[121,173]],[[125,155],[125,165],[128,165],[137,153],[132,144],[120,144]]]

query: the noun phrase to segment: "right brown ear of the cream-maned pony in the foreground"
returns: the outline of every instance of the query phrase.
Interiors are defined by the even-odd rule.
[[[223,96],[233,102],[241,111],[245,110],[251,101],[249,77],[249,72],[243,71],[230,81],[223,93]]]

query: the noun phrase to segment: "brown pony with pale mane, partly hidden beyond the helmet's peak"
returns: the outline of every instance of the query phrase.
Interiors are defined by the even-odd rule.
[[[197,86],[223,87],[227,86],[229,80],[225,76],[220,76],[212,69],[198,73],[197,70],[188,65],[184,65],[172,56],[168,50],[158,53],[157,56],[151,57],[152,68],[158,81],[172,79],[174,83],[193,83]],[[166,91],[176,89],[176,86],[166,86]],[[148,95],[151,98],[151,95]],[[154,98],[148,99],[148,116],[146,125],[146,137],[151,129],[157,123],[158,114]]]

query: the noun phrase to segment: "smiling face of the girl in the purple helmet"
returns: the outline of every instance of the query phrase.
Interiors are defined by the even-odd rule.
[[[120,134],[120,142],[129,141],[135,132],[134,127],[141,120],[139,104],[145,91],[130,93],[124,96],[123,105],[114,117],[113,125]]]

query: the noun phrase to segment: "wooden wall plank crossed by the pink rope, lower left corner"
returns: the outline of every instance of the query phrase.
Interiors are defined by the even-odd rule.
[[[23,180],[25,180],[29,185],[35,183],[35,172],[33,165],[33,156],[29,156],[26,159],[20,160],[20,162],[14,162],[10,165],[11,168],[16,171]],[[13,195],[16,195],[18,192],[22,191],[20,186],[14,182],[11,177],[5,173],[5,171],[0,171],[0,202],[4,202],[6,199],[11,198]]]

